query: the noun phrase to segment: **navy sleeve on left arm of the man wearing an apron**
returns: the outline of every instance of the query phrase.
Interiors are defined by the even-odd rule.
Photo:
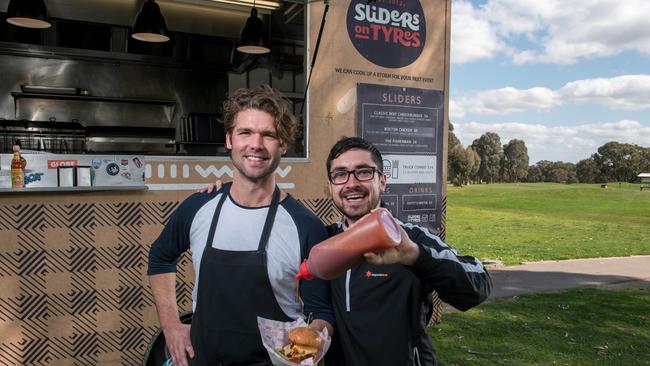
[[[149,249],[147,275],[176,272],[178,258],[190,248],[194,216],[216,194],[194,193],[178,206]]]

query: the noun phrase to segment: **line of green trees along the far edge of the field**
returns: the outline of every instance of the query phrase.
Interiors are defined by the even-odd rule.
[[[650,148],[615,141],[577,164],[541,160],[529,165],[523,140],[501,145],[501,138],[486,132],[464,147],[449,123],[448,178],[458,186],[468,183],[607,183],[636,182],[637,175],[650,172]]]

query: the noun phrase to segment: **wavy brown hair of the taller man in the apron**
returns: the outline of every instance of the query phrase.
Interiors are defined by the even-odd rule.
[[[275,130],[280,141],[292,145],[298,132],[298,120],[291,112],[289,103],[277,89],[268,85],[237,89],[223,102],[223,126],[232,135],[237,113],[246,109],[266,112],[275,121]]]

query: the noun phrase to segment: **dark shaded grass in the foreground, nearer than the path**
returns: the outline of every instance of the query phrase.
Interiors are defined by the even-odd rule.
[[[441,366],[650,365],[650,289],[499,299],[428,331]]]

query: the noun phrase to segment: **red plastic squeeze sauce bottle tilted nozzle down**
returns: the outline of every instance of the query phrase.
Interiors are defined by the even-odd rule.
[[[296,278],[331,280],[361,262],[364,253],[397,246],[401,239],[393,216],[386,209],[377,209],[346,231],[315,245]]]

